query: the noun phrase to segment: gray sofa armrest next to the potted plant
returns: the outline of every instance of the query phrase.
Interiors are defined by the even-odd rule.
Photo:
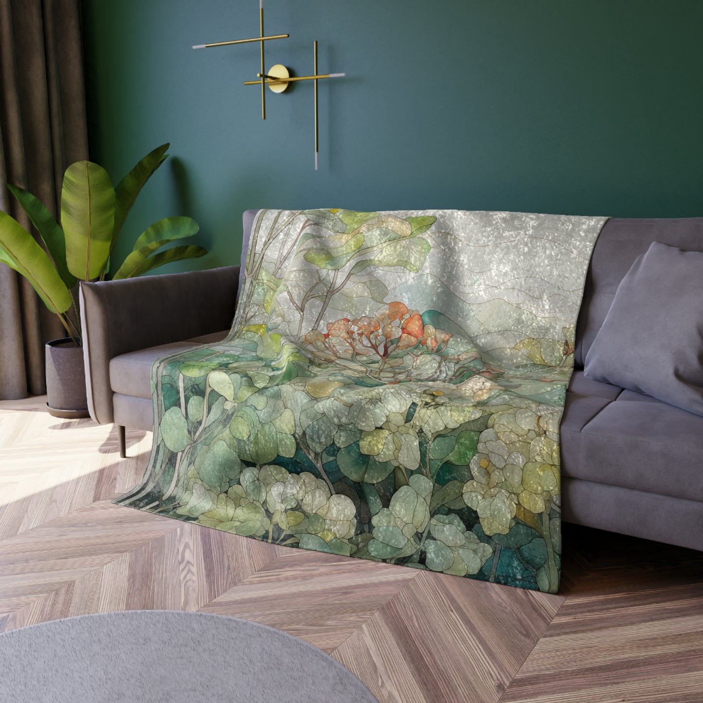
[[[81,283],[83,359],[88,409],[111,423],[110,359],[157,344],[228,329],[234,318],[239,266]]]

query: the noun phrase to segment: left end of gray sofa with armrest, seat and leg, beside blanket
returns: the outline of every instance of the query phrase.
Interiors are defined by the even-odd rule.
[[[82,283],[81,322],[88,408],[115,423],[120,456],[125,427],[151,430],[151,365],[157,357],[229,332],[239,266],[163,276]]]

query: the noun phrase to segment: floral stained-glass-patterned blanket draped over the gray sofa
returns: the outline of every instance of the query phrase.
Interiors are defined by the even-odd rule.
[[[116,502],[555,593],[559,424],[605,218],[264,210],[231,333],[153,366]]]

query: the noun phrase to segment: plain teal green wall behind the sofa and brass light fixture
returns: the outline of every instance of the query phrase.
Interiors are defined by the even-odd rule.
[[[701,0],[266,0],[266,65],[312,85],[243,86],[256,0],[84,0],[91,158],[117,181],[171,157],[118,254],[187,214],[210,249],[171,269],[236,262],[250,207],[505,209],[617,217],[703,214]]]

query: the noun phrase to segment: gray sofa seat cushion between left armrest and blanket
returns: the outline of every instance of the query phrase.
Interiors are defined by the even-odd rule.
[[[228,335],[229,330],[193,337],[183,342],[159,344],[157,347],[127,352],[110,359],[110,388],[115,393],[137,398],[151,398],[151,365],[160,356],[183,352],[199,344],[215,344]]]

